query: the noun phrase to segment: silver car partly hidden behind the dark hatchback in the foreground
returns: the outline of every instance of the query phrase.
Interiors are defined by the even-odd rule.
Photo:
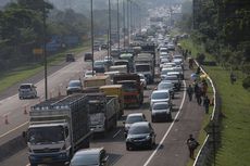
[[[128,114],[126,120],[124,122],[124,136],[127,137],[127,131],[129,130],[132,124],[138,122],[147,122],[143,113],[133,113]]]

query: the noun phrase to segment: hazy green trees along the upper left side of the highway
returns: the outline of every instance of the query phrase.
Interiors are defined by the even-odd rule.
[[[33,51],[42,49],[45,40],[50,54],[82,42],[88,34],[89,18],[73,10],[54,10],[43,0],[8,3],[0,11],[0,69],[41,61]]]

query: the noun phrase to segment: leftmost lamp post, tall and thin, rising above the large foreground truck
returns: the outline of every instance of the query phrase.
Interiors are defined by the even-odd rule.
[[[42,9],[42,24],[43,24],[43,63],[45,63],[45,100],[48,100],[48,79],[47,79],[47,52],[46,52],[46,38],[47,38],[47,29],[46,29],[46,1],[43,1]]]

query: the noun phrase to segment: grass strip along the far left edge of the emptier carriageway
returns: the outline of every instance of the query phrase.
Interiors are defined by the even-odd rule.
[[[77,56],[80,56],[80,54],[78,53],[87,50],[88,48],[89,48],[89,43],[86,43],[85,46],[76,47],[74,49],[66,50],[53,56],[50,56],[48,58],[48,66],[61,64],[62,62],[64,62],[66,52],[73,52],[77,54]],[[0,92],[15,85],[18,81],[25,80],[36,75],[42,69],[43,69],[43,66],[41,64],[30,64],[28,66],[24,65],[24,66],[16,67],[8,72],[0,73]]]

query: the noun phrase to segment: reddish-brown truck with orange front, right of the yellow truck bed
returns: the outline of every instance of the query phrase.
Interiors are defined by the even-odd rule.
[[[143,84],[138,74],[121,74],[113,77],[114,85],[123,85],[124,106],[140,105],[143,103]]]

